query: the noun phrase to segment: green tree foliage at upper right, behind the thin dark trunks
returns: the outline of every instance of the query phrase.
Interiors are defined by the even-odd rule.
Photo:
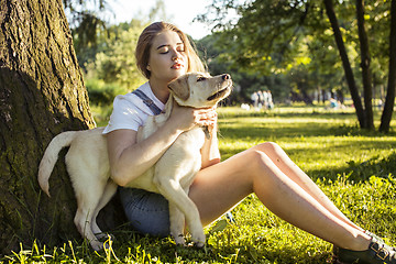
[[[365,14],[374,88],[382,98],[384,95],[380,95],[378,89],[386,84],[389,56],[389,6],[391,1],[367,1]],[[336,1],[334,8],[358,86],[361,86],[355,2]],[[238,20],[222,15],[231,11],[239,14]],[[282,89],[282,96],[293,91],[304,98],[315,90],[332,94],[348,90],[322,1],[213,0],[211,11],[198,20],[211,24],[220,35],[212,45],[222,47],[230,68],[271,76],[287,84],[274,87],[275,95],[275,89]],[[263,85],[268,86],[267,80]],[[250,92],[253,88],[246,89]]]

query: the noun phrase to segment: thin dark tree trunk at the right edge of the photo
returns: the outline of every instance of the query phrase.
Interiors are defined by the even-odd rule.
[[[396,0],[391,7],[391,35],[389,35],[389,75],[384,111],[381,117],[381,132],[389,132],[396,90]]]

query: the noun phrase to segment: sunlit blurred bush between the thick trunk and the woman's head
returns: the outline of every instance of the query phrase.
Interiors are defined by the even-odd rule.
[[[90,105],[97,122],[101,124],[108,121],[116,96],[128,94],[145,81],[134,56],[143,26],[135,20],[113,25],[108,29],[107,37],[100,38],[98,46],[87,48],[86,56],[80,57],[85,62],[85,84]],[[96,112],[98,107],[107,109],[105,114]]]

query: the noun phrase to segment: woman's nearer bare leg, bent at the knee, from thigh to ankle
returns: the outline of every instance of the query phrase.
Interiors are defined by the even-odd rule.
[[[369,248],[369,235],[334,216],[257,148],[200,170],[189,196],[208,224],[252,193],[275,215],[311,234],[344,249]]]

